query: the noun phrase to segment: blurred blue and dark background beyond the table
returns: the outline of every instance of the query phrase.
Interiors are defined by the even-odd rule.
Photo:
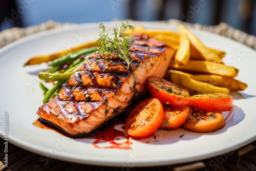
[[[61,23],[106,22],[114,19],[181,19],[202,25],[230,26],[256,35],[254,0],[0,0],[0,30]]]

